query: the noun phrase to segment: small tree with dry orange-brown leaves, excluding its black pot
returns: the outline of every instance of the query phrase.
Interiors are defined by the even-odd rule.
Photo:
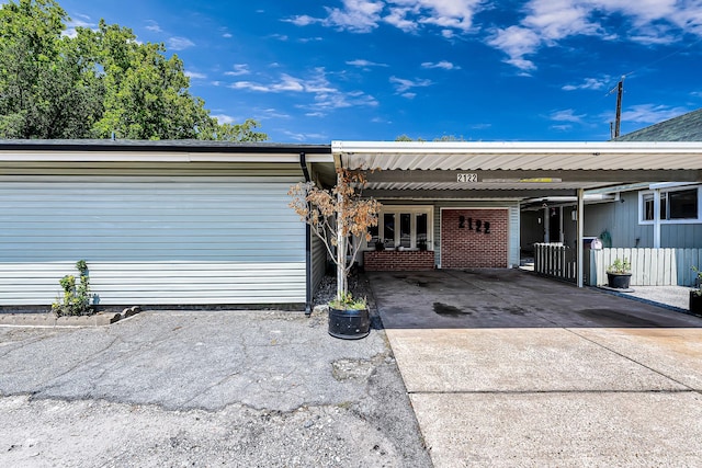
[[[362,246],[360,241],[349,243],[349,237],[371,240],[369,228],[377,226],[382,206],[376,199],[362,198],[366,183],[363,171],[340,168],[337,169],[337,185],[330,190],[320,189],[314,182],[301,182],[287,193],[293,197],[290,207],[322,240],[337,264],[337,301],[340,305],[352,303],[348,276]]]

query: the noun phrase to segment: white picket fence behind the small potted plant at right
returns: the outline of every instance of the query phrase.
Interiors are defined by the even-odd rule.
[[[702,249],[591,250],[588,284],[607,284],[607,267],[618,258],[631,262],[632,286],[694,286],[692,266],[702,267]]]

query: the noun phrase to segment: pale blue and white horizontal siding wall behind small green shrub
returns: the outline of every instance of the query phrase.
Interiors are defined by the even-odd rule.
[[[102,305],[305,301],[299,178],[0,179],[0,305],[47,305],[86,260]]]

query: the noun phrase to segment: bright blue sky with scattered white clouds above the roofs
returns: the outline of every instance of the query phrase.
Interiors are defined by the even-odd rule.
[[[702,106],[700,0],[59,0],[178,54],[276,142],[610,138]]]

